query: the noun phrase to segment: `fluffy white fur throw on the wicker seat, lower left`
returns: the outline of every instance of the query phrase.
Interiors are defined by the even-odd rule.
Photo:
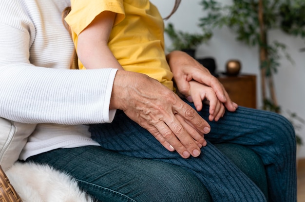
[[[15,163],[5,174],[23,202],[94,202],[70,175],[47,165]]]

